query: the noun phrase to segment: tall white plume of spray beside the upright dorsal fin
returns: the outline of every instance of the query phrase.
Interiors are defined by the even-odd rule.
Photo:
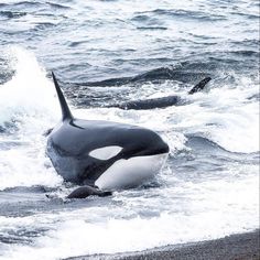
[[[54,99],[54,87],[33,53],[21,47],[10,47],[8,53],[15,73],[0,87],[0,123],[13,117],[25,117],[25,120],[28,116],[56,118],[58,105]],[[36,123],[31,126],[34,127]]]

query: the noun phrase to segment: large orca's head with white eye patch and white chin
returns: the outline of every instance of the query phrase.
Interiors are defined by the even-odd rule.
[[[160,173],[169,155],[169,145],[158,133],[134,126],[108,124],[98,134],[98,148],[88,153],[91,170],[95,165],[90,175],[96,186],[102,189],[136,187]],[[98,169],[102,170],[98,172]]]

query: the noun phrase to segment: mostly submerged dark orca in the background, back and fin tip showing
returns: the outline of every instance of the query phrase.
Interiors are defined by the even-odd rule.
[[[196,84],[187,94],[193,95],[197,91],[201,91],[205,88],[207,83],[212,80],[210,77],[206,77],[203,80],[201,80],[198,84]],[[151,98],[151,99],[141,99],[141,100],[133,100],[133,101],[127,101],[121,104],[113,104],[104,106],[106,108],[120,108],[124,110],[133,109],[133,110],[147,110],[147,109],[154,109],[154,108],[166,108],[170,106],[180,106],[184,105],[186,101],[181,98],[180,96],[167,96],[167,97],[161,97],[161,98]]]

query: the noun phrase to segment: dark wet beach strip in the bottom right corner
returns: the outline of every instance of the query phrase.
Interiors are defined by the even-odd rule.
[[[202,242],[165,246],[137,252],[89,254],[66,260],[259,260],[260,230]]]

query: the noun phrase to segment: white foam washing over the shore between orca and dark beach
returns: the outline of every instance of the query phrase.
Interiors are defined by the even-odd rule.
[[[130,197],[123,202],[123,207],[112,204],[15,219],[1,217],[0,226],[4,225],[6,229],[21,226],[29,230],[34,226],[51,229],[36,238],[33,246],[10,248],[4,259],[61,259],[136,251],[253,230],[258,228],[257,181],[257,176],[251,176],[237,182],[183,183],[164,191],[163,205],[154,193],[154,198]],[[118,194],[113,199],[121,202],[123,197]],[[153,199],[156,208],[151,206]],[[140,217],[140,203],[161,213],[150,218]]]

